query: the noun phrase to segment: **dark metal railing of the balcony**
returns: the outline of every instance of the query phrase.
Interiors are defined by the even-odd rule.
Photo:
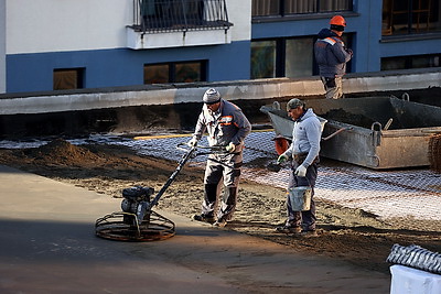
[[[133,0],[133,25],[143,33],[228,30],[225,0]]]

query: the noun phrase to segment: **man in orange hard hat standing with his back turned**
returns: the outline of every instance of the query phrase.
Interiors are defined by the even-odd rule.
[[[346,21],[342,15],[335,15],[330,21],[330,29],[319,32],[314,45],[315,61],[319,64],[327,99],[343,97],[342,77],[346,73],[346,63],[351,61],[353,52],[345,47],[342,40]]]

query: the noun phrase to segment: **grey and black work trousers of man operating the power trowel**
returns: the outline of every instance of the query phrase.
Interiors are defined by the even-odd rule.
[[[208,155],[204,176],[203,215],[214,216],[214,209],[218,206],[217,220],[232,219],[236,209],[241,165],[243,152]],[[224,195],[222,202],[218,203],[222,183],[224,184]]]

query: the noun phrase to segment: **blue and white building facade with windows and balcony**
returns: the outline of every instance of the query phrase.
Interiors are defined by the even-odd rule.
[[[0,0],[0,94],[303,78],[341,14],[351,73],[440,67],[438,0]],[[37,12],[36,12],[37,11]]]

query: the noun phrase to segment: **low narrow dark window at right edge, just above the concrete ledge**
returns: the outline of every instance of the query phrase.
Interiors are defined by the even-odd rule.
[[[381,58],[381,70],[440,67],[441,54],[409,55]]]

